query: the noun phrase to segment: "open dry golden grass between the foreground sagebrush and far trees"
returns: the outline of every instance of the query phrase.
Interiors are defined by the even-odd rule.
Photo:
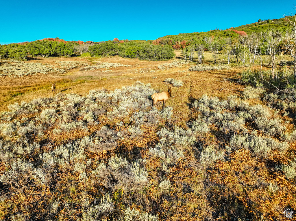
[[[176,50],[176,57],[180,56],[180,50]],[[207,55],[210,59],[210,55]],[[7,105],[14,102],[29,101],[38,97],[52,96],[49,81],[57,81],[56,92],[88,94],[90,90],[105,88],[107,90],[119,89],[122,86],[135,84],[136,81],[151,83],[152,88],[157,91],[166,91],[164,80],[175,78],[184,82],[180,88],[172,89],[172,98],[167,106],[174,110],[174,122],[186,122],[189,116],[188,104],[192,99],[199,98],[202,94],[226,98],[231,94],[239,94],[242,86],[237,84],[237,73],[240,69],[233,68],[227,71],[188,71],[195,63],[159,69],[162,64],[178,61],[177,58],[168,61],[142,61],[128,59],[119,56],[105,58],[36,58],[28,62],[41,62],[55,64],[55,61],[82,61],[88,64],[94,63],[121,63],[128,67],[105,68],[94,71],[79,71],[73,69],[66,74],[60,75],[37,75],[25,76],[23,78],[1,78],[0,86],[0,111],[7,110]],[[156,78],[153,78],[156,77]],[[158,104],[160,108],[160,104]]]

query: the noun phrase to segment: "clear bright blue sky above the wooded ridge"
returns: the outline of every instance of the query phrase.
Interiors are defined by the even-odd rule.
[[[46,37],[65,40],[154,40],[165,35],[237,27],[293,13],[284,1],[5,1],[0,44]]]

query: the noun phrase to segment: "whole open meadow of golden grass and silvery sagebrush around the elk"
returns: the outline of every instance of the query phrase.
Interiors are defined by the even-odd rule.
[[[197,66],[175,53],[0,60],[0,220],[263,221],[296,211],[296,91],[251,88],[241,83],[248,68],[225,62],[192,71],[213,67],[214,54]],[[151,107],[165,81],[179,85],[168,84],[164,109]]]

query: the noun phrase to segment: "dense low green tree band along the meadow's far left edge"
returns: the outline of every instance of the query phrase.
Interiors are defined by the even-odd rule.
[[[140,60],[168,60],[175,56],[169,45],[153,45],[146,41],[118,42],[107,41],[88,45],[76,42],[36,40],[25,44],[0,45],[0,59],[25,60],[28,55],[36,57],[71,57],[90,52],[92,56],[115,56],[139,58]]]

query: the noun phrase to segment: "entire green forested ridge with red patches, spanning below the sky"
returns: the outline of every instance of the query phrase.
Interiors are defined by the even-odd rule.
[[[293,17],[290,17],[293,19]],[[278,32],[281,35],[287,35],[292,26],[286,18],[262,20],[252,24],[242,25],[236,28],[226,30],[210,30],[208,32],[183,33],[178,35],[167,35],[156,40],[119,40],[92,42],[92,41],[65,41],[57,38],[45,38],[33,42],[12,43],[0,45],[0,59],[14,58],[24,60],[28,56],[76,56],[84,53],[88,56],[114,56],[119,55],[126,58],[139,58],[140,60],[168,60],[175,55],[171,49],[185,49],[188,51],[220,51],[230,55],[237,56],[242,51],[242,45],[249,40],[253,43],[254,38],[259,38],[264,42],[264,33],[269,31]],[[259,35],[259,36],[258,36]],[[282,39],[279,41],[280,51],[285,51],[285,43]],[[236,45],[235,45],[236,44]],[[168,46],[165,46],[168,45]],[[229,45],[235,45],[234,52],[227,52]],[[165,47],[164,47],[165,46]],[[248,45],[252,50],[252,45]],[[243,46],[245,47],[245,46]],[[260,50],[260,48],[258,48]],[[256,48],[257,50],[257,48]],[[258,53],[258,52],[257,52]],[[262,54],[268,54],[260,50]],[[187,56],[186,56],[187,57]],[[189,55],[190,57],[190,55]],[[201,62],[202,55],[199,56]],[[238,62],[237,58],[237,62]],[[228,62],[229,63],[229,62]]]

